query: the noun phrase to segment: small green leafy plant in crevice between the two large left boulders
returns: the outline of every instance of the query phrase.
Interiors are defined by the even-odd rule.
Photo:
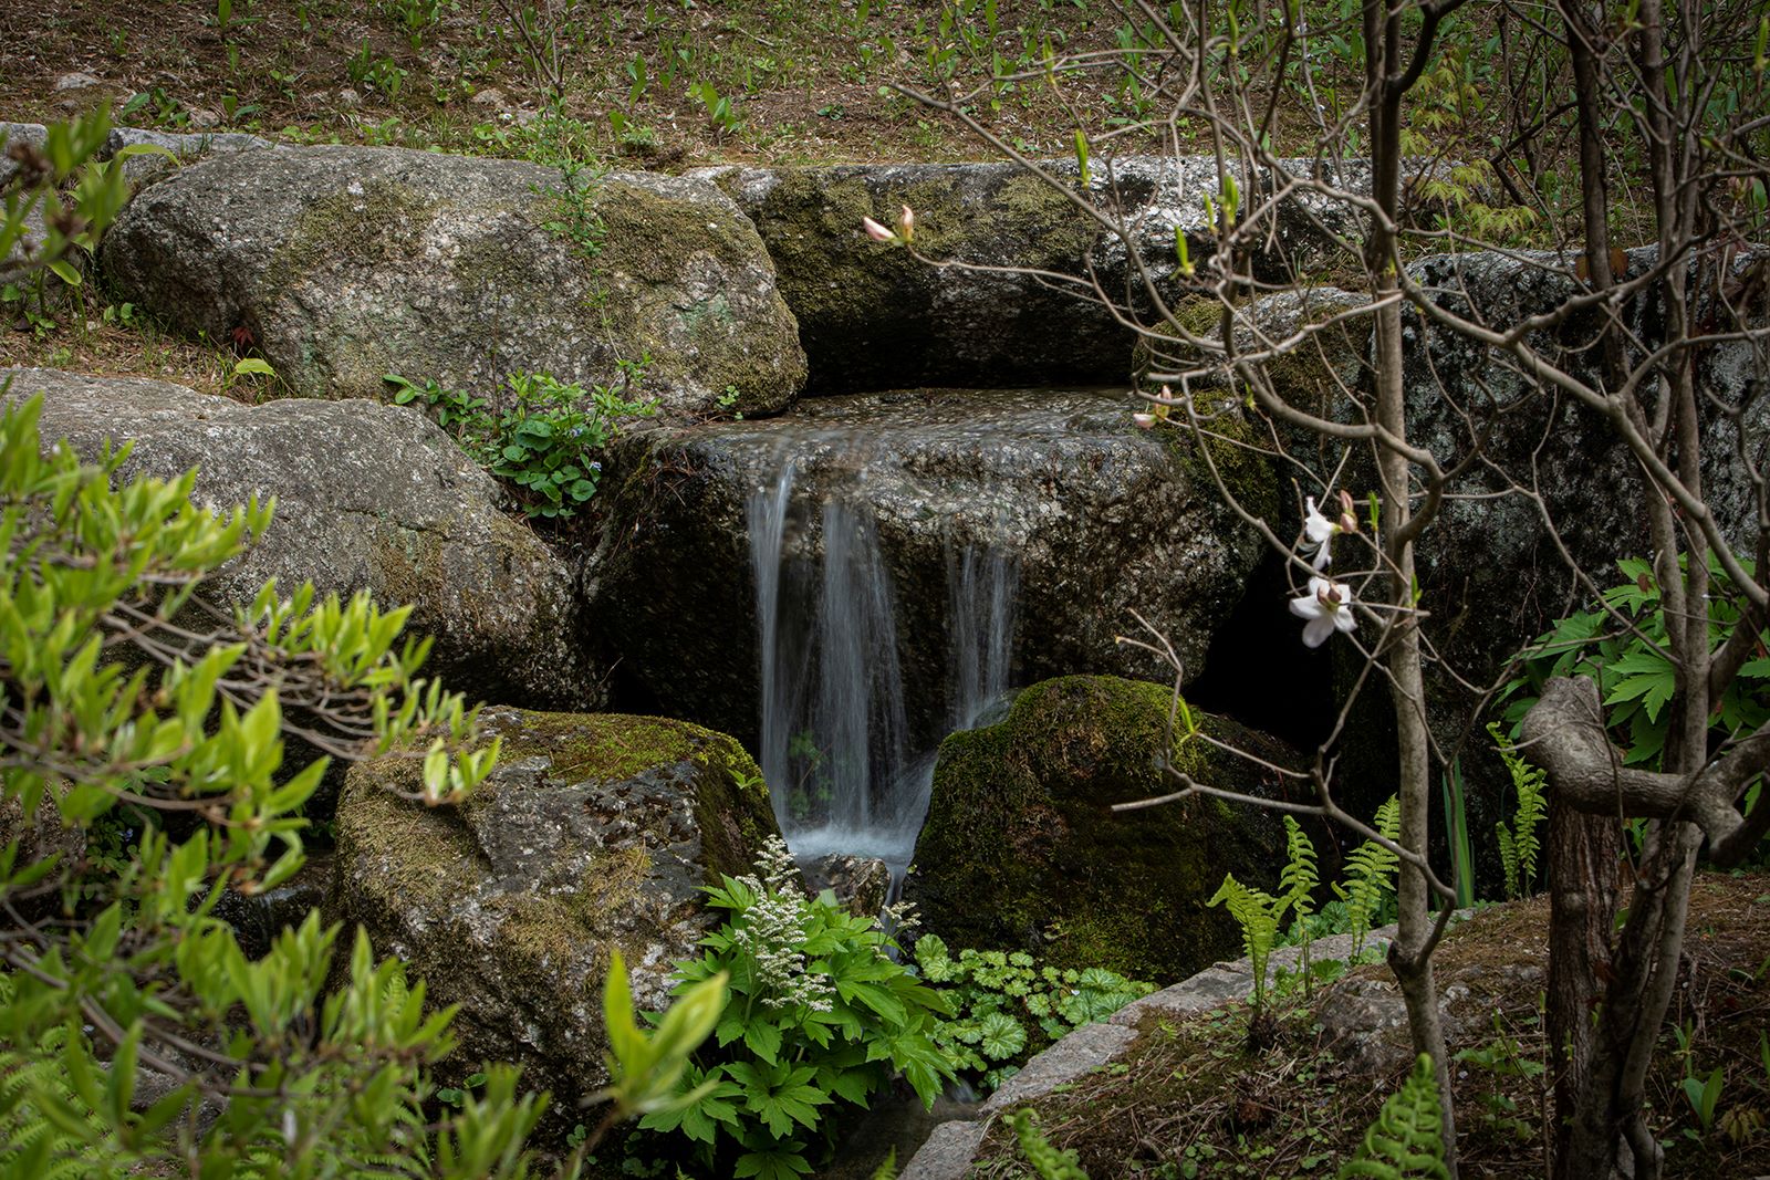
[[[533,518],[568,520],[596,495],[596,458],[621,423],[650,418],[657,402],[627,395],[644,375],[644,363],[625,363],[616,387],[563,382],[549,373],[515,373],[510,396],[492,403],[435,380],[423,384],[388,373],[393,402],[421,402],[462,449],[515,488]]]

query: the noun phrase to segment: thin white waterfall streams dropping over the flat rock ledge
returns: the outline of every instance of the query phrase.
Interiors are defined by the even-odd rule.
[[[864,487],[850,481],[820,504],[795,497],[798,474],[784,458],[745,506],[761,649],[758,761],[795,856],[878,856],[901,877],[935,773],[935,748],[917,748],[904,702],[943,697],[952,731],[1002,699],[1018,568],[997,547],[949,538],[945,683],[906,683],[904,647],[919,637],[901,633]]]

